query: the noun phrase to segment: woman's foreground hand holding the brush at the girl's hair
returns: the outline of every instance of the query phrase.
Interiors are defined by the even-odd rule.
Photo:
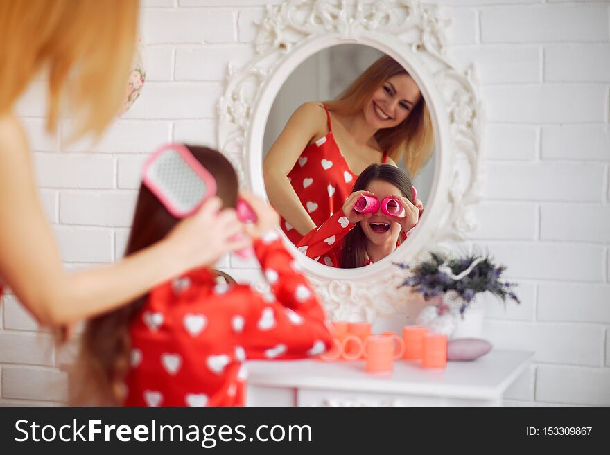
[[[220,211],[218,197],[207,199],[192,216],[179,222],[165,241],[171,244],[185,270],[212,265],[227,253],[250,246],[243,225],[232,208]]]

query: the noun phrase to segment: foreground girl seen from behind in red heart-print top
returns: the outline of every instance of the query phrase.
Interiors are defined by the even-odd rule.
[[[214,175],[223,206],[234,207],[238,181],[229,161],[209,148],[190,150]],[[78,402],[241,405],[246,358],[295,359],[330,346],[320,302],[275,230],[277,213],[254,197],[244,197],[258,217],[247,232],[273,294],[261,296],[247,285],[216,284],[211,269],[202,267],[96,317],[82,339]],[[141,186],[127,252],[162,239],[175,223]]]

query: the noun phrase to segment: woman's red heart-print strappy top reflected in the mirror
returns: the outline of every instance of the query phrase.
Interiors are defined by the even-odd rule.
[[[333,216],[333,213],[342,208],[358,178],[358,175],[351,172],[347,166],[347,161],[335,141],[331,115],[326,106],[324,111],[329,128],[328,134],[303,150],[287,176],[301,204],[316,226],[320,226],[329,216]],[[383,152],[381,162],[387,162],[386,152]],[[299,243],[302,239],[303,236],[284,218],[281,219],[280,226],[293,244]]]

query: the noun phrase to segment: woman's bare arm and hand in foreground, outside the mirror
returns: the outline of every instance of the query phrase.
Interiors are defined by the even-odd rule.
[[[0,278],[42,324],[58,325],[112,310],[186,269],[214,262],[227,248],[248,242],[229,240],[227,236],[241,225],[234,211],[217,214],[220,202],[214,198],[153,247],[114,265],[67,274],[32,167],[23,128],[16,118],[0,116]]]

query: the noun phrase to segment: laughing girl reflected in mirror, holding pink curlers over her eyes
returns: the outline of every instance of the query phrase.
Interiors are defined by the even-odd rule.
[[[361,214],[354,204],[362,195],[380,202],[395,197],[403,208],[400,216]],[[297,247],[307,256],[328,265],[353,269],[377,262],[392,253],[419,221],[419,208],[413,204],[411,181],[406,172],[390,164],[372,164],[356,184],[343,207],[318,229],[312,229]]]

